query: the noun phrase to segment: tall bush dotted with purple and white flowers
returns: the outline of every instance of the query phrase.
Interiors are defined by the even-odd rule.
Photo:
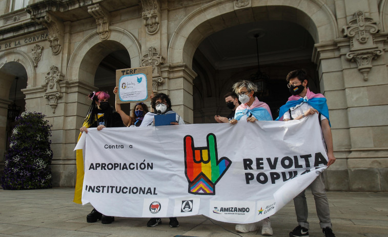
[[[46,116],[23,112],[16,118],[5,161],[4,189],[51,188],[51,126]]]

